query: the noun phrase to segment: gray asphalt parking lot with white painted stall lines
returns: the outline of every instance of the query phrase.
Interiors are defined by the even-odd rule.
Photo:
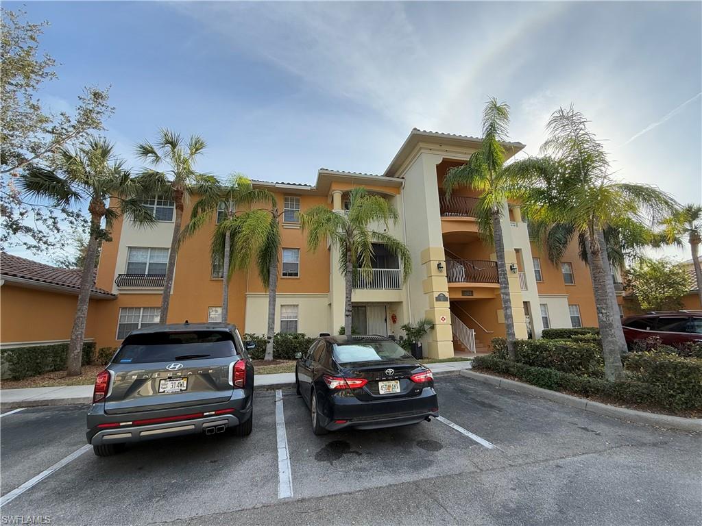
[[[61,525],[699,524],[700,436],[465,377],[436,383],[442,421],[317,437],[292,390],[257,391],[248,438],[108,458],[74,454],[86,407],[4,412],[1,493],[13,498],[1,513]]]

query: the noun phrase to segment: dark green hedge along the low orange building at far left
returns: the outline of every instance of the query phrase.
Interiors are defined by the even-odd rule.
[[[95,343],[83,344],[81,365],[91,363]],[[21,380],[44,372],[66,369],[68,344],[37,345],[31,347],[13,347],[2,351],[2,378]]]

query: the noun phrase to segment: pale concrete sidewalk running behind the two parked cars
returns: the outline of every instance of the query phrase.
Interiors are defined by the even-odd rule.
[[[458,375],[462,369],[472,368],[472,361],[428,363],[427,367],[436,377]],[[282,372],[277,375],[256,375],[253,386],[255,389],[294,387],[295,373]],[[92,400],[92,385],[0,389],[0,407],[3,410],[15,407],[36,407],[38,405],[88,404]]]

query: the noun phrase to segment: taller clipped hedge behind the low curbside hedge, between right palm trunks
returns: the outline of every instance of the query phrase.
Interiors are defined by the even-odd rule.
[[[492,356],[507,359],[507,342],[504,338],[493,338],[492,348]],[[580,376],[601,377],[604,370],[602,348],[598,344],[572,340],[519,339],[516,361]]]

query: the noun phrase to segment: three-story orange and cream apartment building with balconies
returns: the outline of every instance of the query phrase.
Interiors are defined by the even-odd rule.
[[[397,259],[378,245],[371,274],[354,276],[355,328],[399,337],[404,323],[428,318],[435,328],[425,339],[425,352],[437,358],[453,356],[454,349],[487,348],[491,338],[504,336],[496,255],[478,235],[477,196],[456,189],[446,198],[443,189],[446,170],[465,163],[479,144],[477,137],[414,129],[380,175],[322,168],[313,185],[254,181],[272,191],[283,210],[276,331],[318,335],[337,333],[343,325],[345,287],[337,250],[307,250],[298,213],[322,204],[343,214],[350,189],[365,187],[399,211],[390,234],[409,246],[413,271],[403,280]],[[505,144],[510,157],[523,147]],[[173,203],[154,196],[145,204],[157,225],[117,222],[112,242],[102,248],[95,285],[112,299],[91,304],[86,335],[98,346],[117,346],[130,330],[159,319]],[[178,252],[169,323],[220,319],[222,269],[213,268],[209,256],[214,227],[213,219]],[[551,264],[531,245],[516,205],[504,204],[502,229],[517,337],[539,337],[546,327],[597,325],[590,273],[577,248]],[[267,292],[256,269],[234,275],[229,301],[231,322],[245,332],[265,333]]]

